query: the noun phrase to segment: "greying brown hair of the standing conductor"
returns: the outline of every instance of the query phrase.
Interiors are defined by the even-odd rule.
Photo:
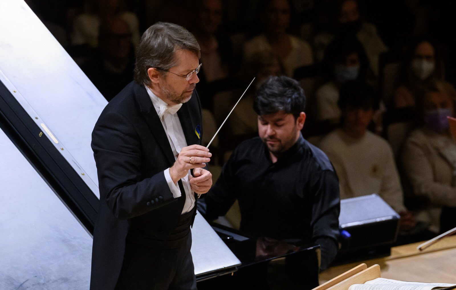
[[[150,85],[147,70],[150,67],[161,68],[160,73],[177,65],[174,52],[187,49],[201,58],[198,41],[192,33],[182,26],[168,22],[157,22],[141,36],[136,48],[135,81]]]

